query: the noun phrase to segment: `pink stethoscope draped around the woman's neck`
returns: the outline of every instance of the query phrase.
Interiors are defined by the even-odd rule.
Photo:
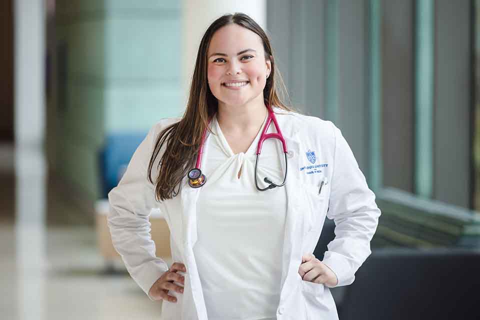
[[[275,117],[275,114],[273,113],[271,107],[269,105],[267,105],[266,108],[268,109],[268,116],[266,118],[266,123],[265,123],[265,126],[263,127],[263,131],[261,132],[260,140],[258,141],[258,145],[256,147],[255,185],[256,185],[256,188],[258,189],[258,191],[265,191],[265,190],[268,190],[268,189],[273,189],[276,186],[282,186],[282,185],[285,184],[285,180],[286,180],[286,168],[287,168],[286,142],[285,142],[285,139],[283,138],[283,135],[281,134],[280,128],[278,126],[278,122],[276,122],[276,117]],[[210,121],[211,121],[211,119],[210,119]],[[208,121],[208,125],[210,124],[210,121]],[[275,129],[276,129],[277,133],[268,133],[267,134],[266,131],[268,130],[268,127],[270,126],[271,121],[273,121],[273,124],[275,125]],[[188,171],[188,184],[193,188],[200,187],[206,182],[206,177],[205,177],[204,174],[201,173],[201,170],[200,170],[201,154],[203,152],[203,143],[205,142],[205,136],[206,136],[206,128],[203,131],[203,135],[201,137],[201,144],[200,144],[200,148],[198,149],[198,154],[196,156],[195,167],[193,169],[191,169],[190,171]],[[258,179],[258,174],[257,174],[258,158],[259,158],[259,155],[260,155],[260,152],[261,152],[261,145],[263,144],[263,141],[266,140],[266,139],[269,139],[269,138],[275,138],[275,139],[280,140],[280,142],[281,142],[281,145],[283,147],[283,154],[285,155],[285,176],[283,177],[283,182],[281,182],[280,184],[276,184],[276,183],[272,182],[269,178],[267,178],[265,176],[263,181],[265,181],[266,183],[269,183],[269,185],[266,188],[260,188],[258,186],[258,180],[257,180]]]

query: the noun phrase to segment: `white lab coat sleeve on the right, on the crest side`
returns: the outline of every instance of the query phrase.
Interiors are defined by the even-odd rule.
[[[355,272],[370,255],[380,210],[348,143],[332,127],[335,149],[327,217],[335,222],[335,237],[322,262],[336,274],[335,286],[341,286],[353,282]]]

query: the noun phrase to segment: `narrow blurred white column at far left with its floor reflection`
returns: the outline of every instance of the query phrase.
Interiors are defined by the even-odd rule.
[[[14,1],[15,251],[17,313],[45,313],[45,7]]]

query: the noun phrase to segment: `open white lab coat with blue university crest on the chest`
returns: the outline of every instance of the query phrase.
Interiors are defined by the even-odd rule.
[[[276,107],[274,111],[289,151],[284,186],[287,197],[285,233],[283,249],[278,252],[282,254],[283,264],[277,319],[338,319],[329,288],[302,280],[298,274],[301,257],[313,252],[326,215],[335,222],[335,238],[328,244],[322,261],[336,274],[337,286],[352,283],[354,273],[371,253],[370,240],[380,211],[347,142],[333,123]],[[136,149],[118,186],[108,193],[108,224],[113,245],[130,275],[148,293],[153,282],[168,269],[167,264],[155,256],[149,233],[150,210],[161,210],[170,229],[172,260],[184,263],[187,271],[180,272],[185,275],[183,294],[169,291],[177,297],[177,302],[163,301],[159,318],[206,320],[192,249],[197,238],[195,204],[201,196],[201,187],[189,187],[185,177],[177,196],[157,202],[154,186],[146,178],[158,133],[177,120],[159,121]],[[207,157],[208,141],[209,135],[203,159]],[[314,160],[308,159],[307,151],[315,153]],[[322,179],[328,183],[318,194]]]

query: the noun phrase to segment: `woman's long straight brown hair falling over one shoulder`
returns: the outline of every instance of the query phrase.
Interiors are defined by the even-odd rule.
[[[280,96],[288,98],[288,94],[276,70],[270,41],[263,29],[244,13],[225,14],[213,21],[203,34],[198,47],[185,112],[180,121],[168,125],[160,132],[148,164],[148,180],[153,183],[153,165],[160,150],[164,148],[156,165],[158,175],[154,181],[155,197],[159,200],[169,199],[178,194],[182,178],[196,161],[202,133],[208,128],[208,119],[217,111],[218,101],[210,91],[207,80],[207,51],[215,31],[231,23],[255,32],[263,42],[265,60],[271,62],[271,72],[263,89],[265,104],[292,111],[292,108],[280,98]]]

